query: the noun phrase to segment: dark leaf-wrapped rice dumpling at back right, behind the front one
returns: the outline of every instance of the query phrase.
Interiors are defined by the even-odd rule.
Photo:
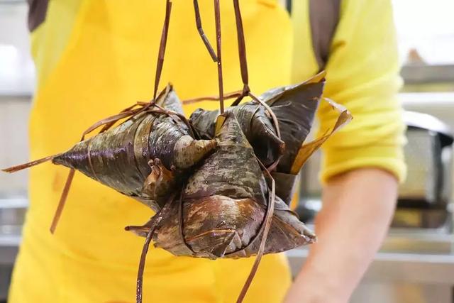
[[[298,150],[311,129],[323,93],[325,75],[325,72],[320,72],[300,84],[270,89],[260,95],[260,99],[271,106],[277,117],[280,138],[267,110],[257,102],[248,101],[227,109],[236,115],[246,138],[265,165],[275,162],[283,154],[277,171],[290,172]],[[201,138],[214,138],[217,116],[218,111],[196,109],[189,121]]]

